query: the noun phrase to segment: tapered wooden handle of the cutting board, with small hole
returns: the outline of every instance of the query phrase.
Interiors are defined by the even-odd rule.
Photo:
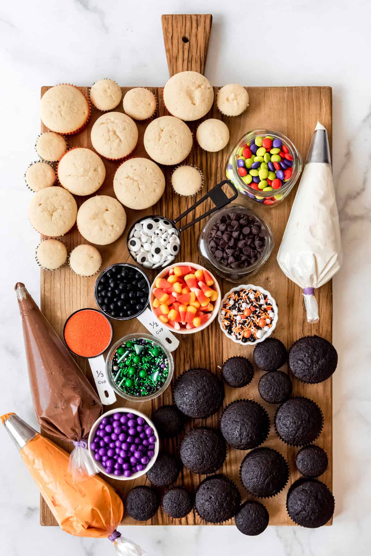
[[[165,15],[161,23],[170,77],[181,71],[204,74],[212,15]]]

